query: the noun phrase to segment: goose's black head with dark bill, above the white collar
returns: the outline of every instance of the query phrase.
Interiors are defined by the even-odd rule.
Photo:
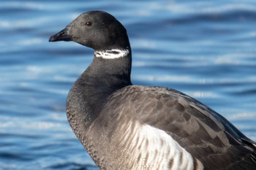
[[[49,42],[74,41],[94,50],[128,49],[127,31],[112,15],[102,11],[85,12]]]

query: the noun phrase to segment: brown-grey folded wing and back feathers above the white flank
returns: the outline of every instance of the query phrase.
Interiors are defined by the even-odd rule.
[[[199,159],[205,169],[256,167],[255,143],[225,117],[184,93],[132,85],[114,93],[108,105],[113,112],[117,107],[127,107],[127,112],[118,114],[165,131]]]

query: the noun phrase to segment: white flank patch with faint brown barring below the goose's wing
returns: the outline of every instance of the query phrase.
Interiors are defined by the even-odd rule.
[[[122,142],[129,146],[127,150],[136,162],[132,163],[134,169],[194,169],[192,155],[159,128],[136,122],[124,131]],[[197,165],[197,169],[203,169],[203,165]]]

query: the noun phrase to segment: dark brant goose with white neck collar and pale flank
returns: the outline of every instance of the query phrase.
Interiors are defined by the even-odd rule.
[[[127,31],[112,15],[83,13],[57,41],[94,49],[67,118],[99,169],[256,169],[256,143],[225,117],[177,90],[132,85]]]

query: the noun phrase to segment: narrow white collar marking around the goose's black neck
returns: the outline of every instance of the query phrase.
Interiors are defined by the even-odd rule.
[[[94,55],[99,58],[105,59],[115,59],[115,58],[122,58],[129,54],[129,50],[103,50],[103,51],[95,51]]]

